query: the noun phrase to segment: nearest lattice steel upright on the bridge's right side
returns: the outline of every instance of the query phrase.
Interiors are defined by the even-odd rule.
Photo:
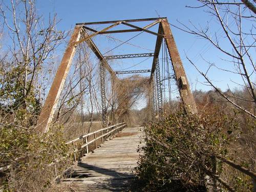
[[[159,115],[162,115],[163,110],[163,97],[162,97],[162,84],[161,84],[161,76],[160,76],[160,67],[158,58],[155,59],[156,63],[156,87],[157,87],[157,112]]]

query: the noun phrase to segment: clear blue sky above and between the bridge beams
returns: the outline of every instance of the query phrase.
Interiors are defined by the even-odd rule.
[[[6,0],[7,1],[7,0]],[[57,13],[57,16],[60,20],[58,24],[59,30],[70,30],[74,27],[76,23],[82,22],[96,22],[96,21],[105,21],[105,20],[121,20],[121,19],[136,19],[136,18],[150,18],[150,17],[167,17],[169,23],[178,25],[180,22],[190,25],[190,21],[196,26],[205,26],[207,21],[210,21],[210,30],[212,32],[217,32],[220,37],[221,43],[224,48],[228,49],[228,44],[225,41],[223,32],[220,29],[220,26],[217,25],[215,19],[212,19],[212,16],[208,15],[203,11],[203,9],[191,9],[186,8],[186,5],[197,5],[196,1],[191,0],[182,0],[182,1],[68,1],[68,0],[44,0],[37,1],[37,9],[40,14],[42,14],[46,19],[48,18],[49,13]],[[146,25],[138,24],[140,26]],[[91,26],[97,30],[100,30],[105,25],[102,26]],[[246,27],[246,26],[245,26]],[[120,27],[117,27],[118,29]],[[152,31],[157,31],[157,27],[153,27]],[[195,70],[193,66],[190,65],[188,60],[185,57],[185,53],[193,60],[197,67],[205,72],[208,68],[207,63],[200,58],[200,54],[208,59],[211,62],[216,62],[219,66],[232,70],[233,66],[230,63],[222,60],[221,58],[226,59],[226,56],[223,56],[220,51],[212,48],[212,46],[198,37],[187,34],[180,31],[177,28],[172,27],[172,31],[176,40],[178,50],[180,52],[181,59],[185,68],[185,72],[188,76],[190,84],[192,84],[193,89],[202,89],[209,90],[210,87],[205,86],[203,82],[205,81],[201,75]],[[126,34],[116,34],[110,35],[111,37],[126,40],[130,37],[133,37],[137,33],[126,33]],[[119,42],[110,41],[109,37],[100,35],[96,37],[95,42],[99,47],[102,53],[108,52],[113,47],[117,46]],[[222,42],[223,40],[223,42]],[[156,41],[156,36],[151,34],[142,33],[138,37],[129,41],[135,46],[123,45],[118,49],[111,51],[109,54],[128,54],[128,53],[147,53],[154,52]],[[146,49],[140,49],[138,47],[143,47]],[[60,55],[65,50],[63,47],[60,50]],[[137,59],[123,59],[115,61],[115,63],[110,63],[114,70],[125,70],[130,66],[136,65],[143,61],[145,58]],[[160,58],[161,59],[161,58]],[[152,58],[147,59],[141,62],[139,65],[136,65],[129,70],[138,70],[138,69],[151,69]],[[146,74],[143,74],[146,75]],[[239,76],[232,73],[225,73],[218,69],[212,69],[209,71],[208,76],[212,81],[217,85],[217,87],[222,90],[226,90],[228,86],[230,88],[235,88],[238,85],[237,83],[242,83],[242,80]],[[255,80],[255,76],[253,77]]]

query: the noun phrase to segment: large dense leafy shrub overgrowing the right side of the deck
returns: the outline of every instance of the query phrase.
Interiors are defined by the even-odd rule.
[[[137,174],[143,190],[205,190],[205,170],[214,154],[226,156],[238,125],[218,112],[209,115],[171,114],[145,126],[146,145],[140,150]]]

